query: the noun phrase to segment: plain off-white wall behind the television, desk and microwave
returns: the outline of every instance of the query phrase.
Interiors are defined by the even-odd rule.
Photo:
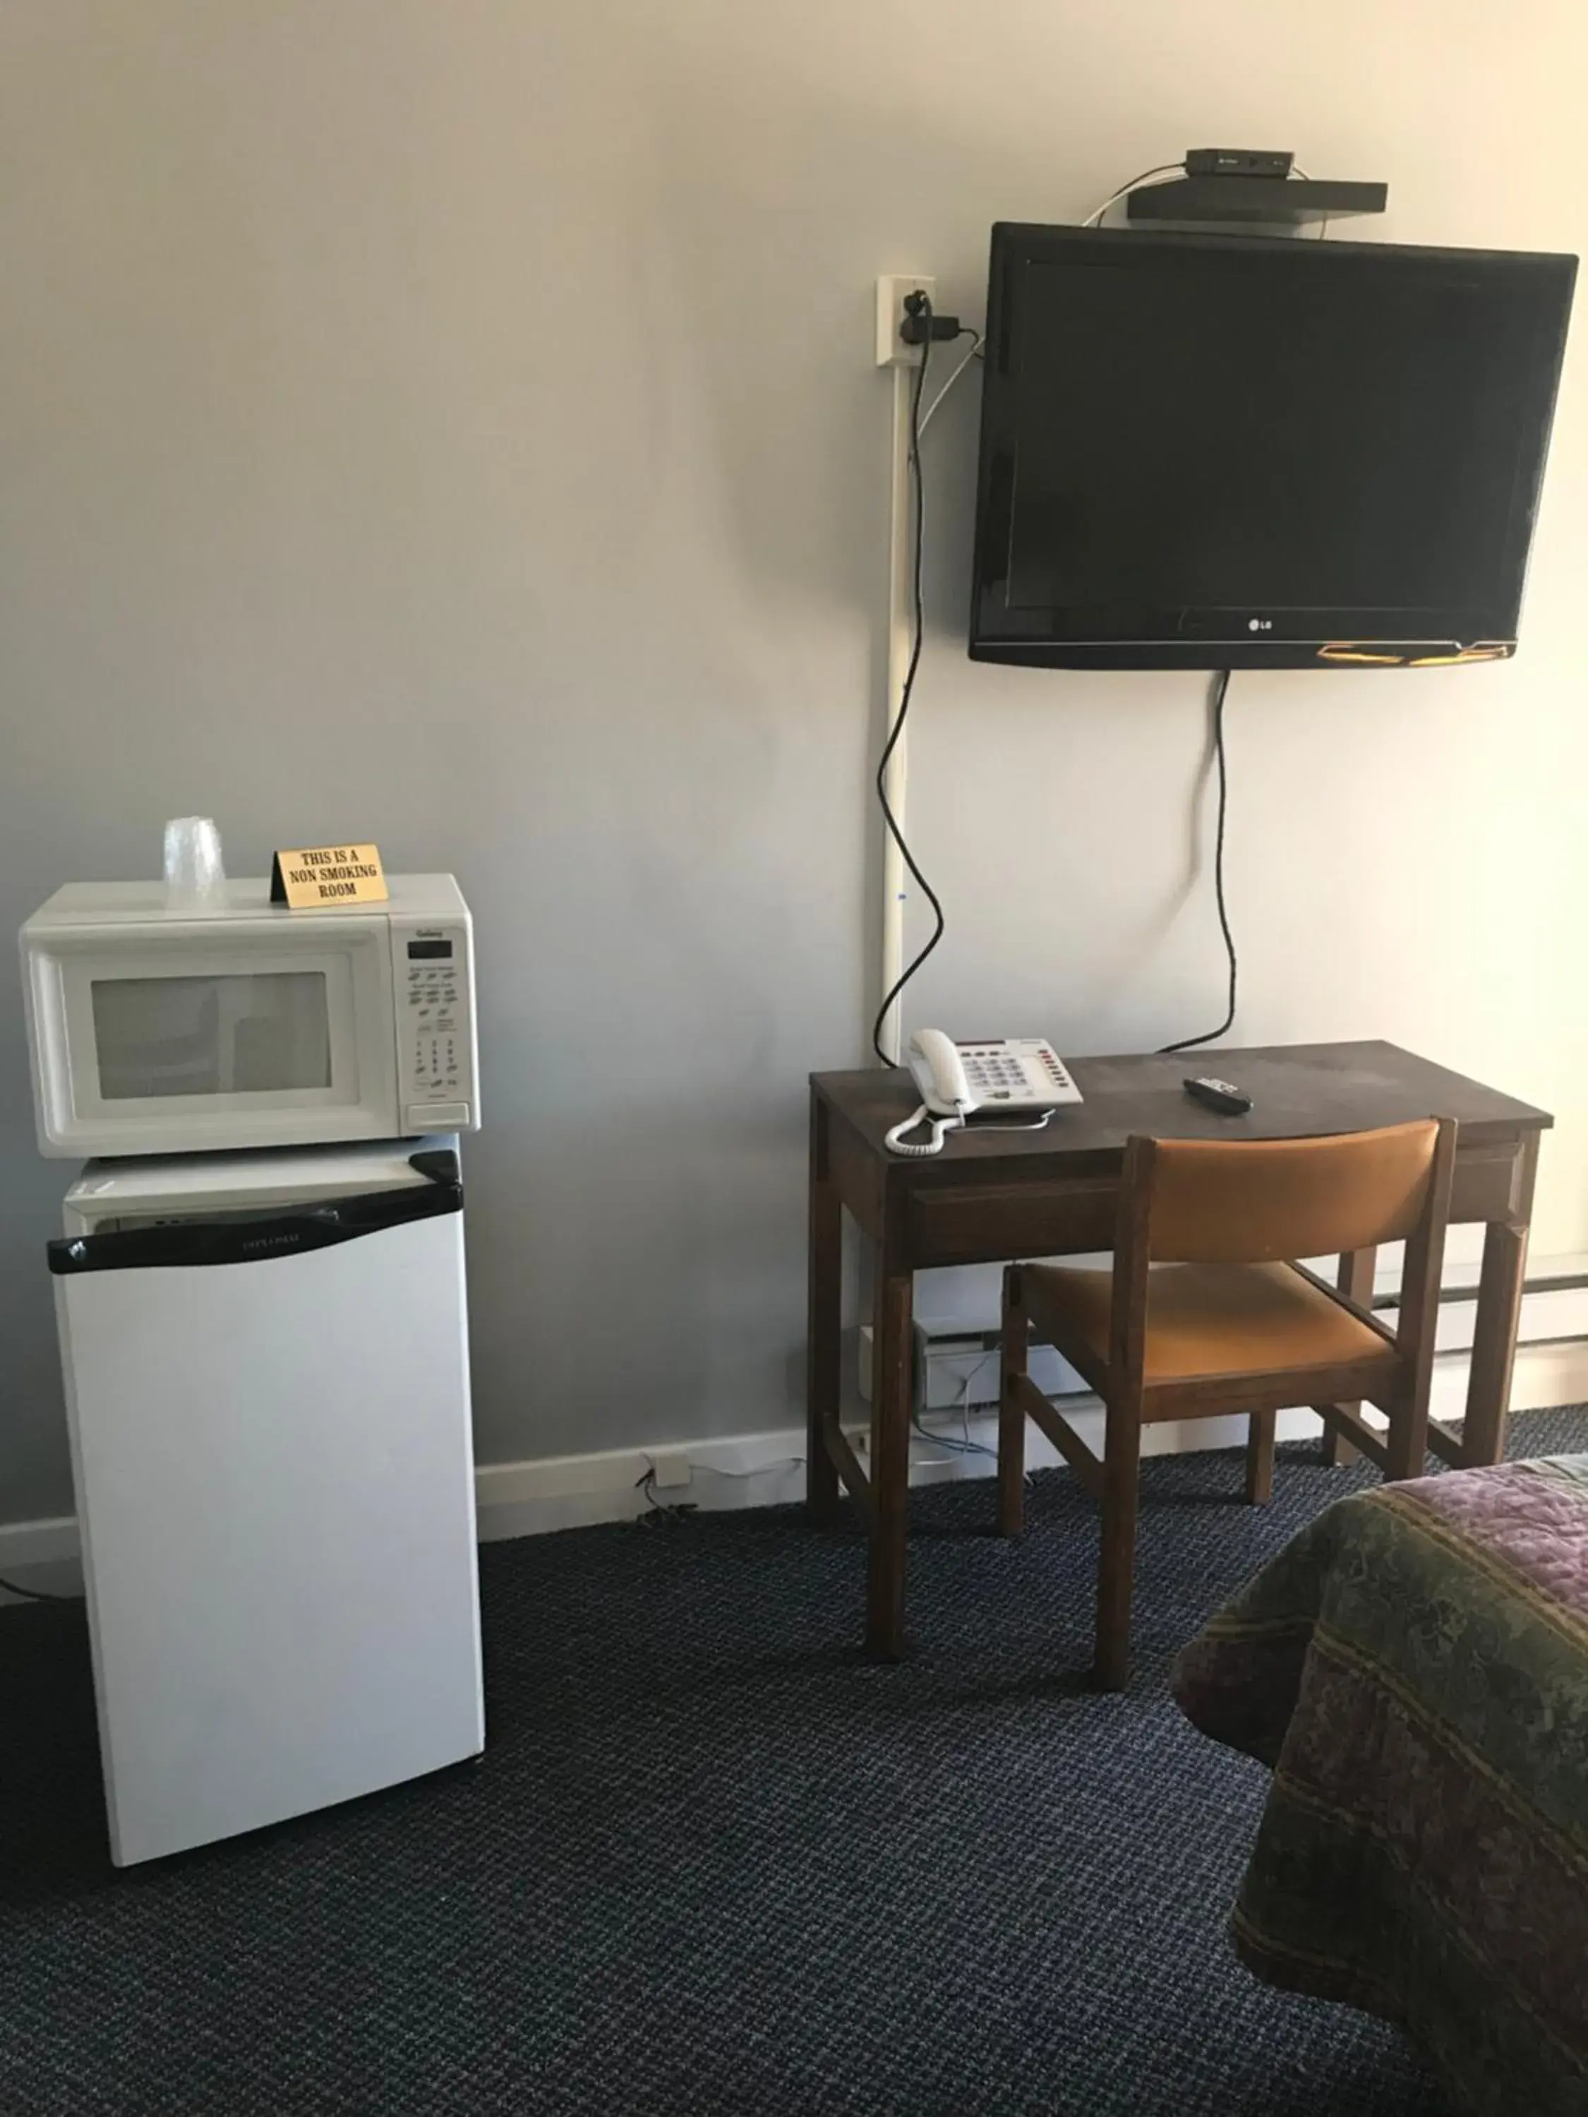
[[[1582,248],[1577,0],[53,0],[0,15],[0,927],[167,815],[453,866],[481,931],[483,1459],[783,1425],[802,1075],[858,1063],[887,383],[993,218],[1188,144],[1381,176],[1372,233]],[[1389,1035],[1560,1114],[1586,1249],[1573,351],[1514,665],[1241,675],[1245,1039]],[[930,436],[913,1020],[1215,1020],[1184,675],[963,658],[974,385]],[[68,1505],[19,1001],[0,1518]]]

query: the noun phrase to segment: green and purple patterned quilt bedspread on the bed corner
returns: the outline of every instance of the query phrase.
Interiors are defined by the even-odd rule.
[[[1186,1647],[1273,1768],[1230,1933],[1482,2117],[1588,2113],[1588,1456],[1338,1501]]]

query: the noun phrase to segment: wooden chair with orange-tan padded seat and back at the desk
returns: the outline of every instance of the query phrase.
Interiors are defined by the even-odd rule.
[[[1031,1418],[1103,1505],[1097,1660],[1103,1689],[1131,1666],[1141,1427],[1249,1412],[1247,1499],[1273,1492],[1275,1416],[1311,1404],[1387,1478],[1427,1450],[1433,1323],[1450,1211],[1455,1124],[1425,1120],[1340,1139],[1131,1139],[1114,1270],[1012,1264],[1004,1274],[997,1526],[1025,1514]],[[1285,1262],[1406,1241],[1400,1327]],[[1099,1461],[1027,1376],[1035,1327],[1099,1393]],[[1389,1412],[1389,1437],[1351,1406]]]

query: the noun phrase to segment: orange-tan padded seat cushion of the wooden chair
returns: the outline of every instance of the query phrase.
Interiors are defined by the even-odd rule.
[[[1037,1264],[1025,1279],[1037,1327],[1052,1308],[1107,1363],[1114,1274]],[[1393,1359],[1376,1332],[1289,1264],[1156,1264],[1148,1272],[1148,1382],[1376,1355]]]

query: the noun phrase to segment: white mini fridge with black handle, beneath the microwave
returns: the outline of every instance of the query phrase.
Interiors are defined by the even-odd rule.
[[[89,1162],[49,1249],[116,1865],[476,1755],[455,1141]]]

